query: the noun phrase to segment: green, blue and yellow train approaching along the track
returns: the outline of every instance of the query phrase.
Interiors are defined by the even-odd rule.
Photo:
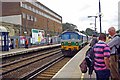
[[[78,31],[64,31],[60,34],[61,51],[64,56],[74,56],[82,47],[88,44],[88,36]]]

